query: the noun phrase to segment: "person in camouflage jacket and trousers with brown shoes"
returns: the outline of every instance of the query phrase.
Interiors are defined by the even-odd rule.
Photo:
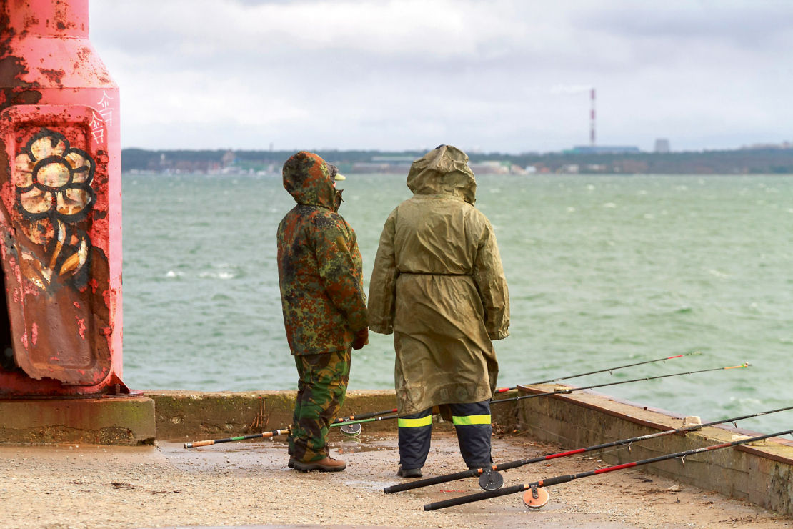
[[[284,326],[299,380],[289,435],[289,466],[344,470],[328,455],[328,427],[347,393],[351,348],[367,343],[361,252],[350,224],[336,213],[343,179],[310,152],[284,164],[284,187],[297,205],[278,224],[278,282]]]

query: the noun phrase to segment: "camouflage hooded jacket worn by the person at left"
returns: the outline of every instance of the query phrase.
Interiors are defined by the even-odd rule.
[[[310,152],[284,164],[284,187],[297,205],[278,224],[278,282],[293,355],[351,347],[366,327],[361,252],[336,210],[335,167]]]

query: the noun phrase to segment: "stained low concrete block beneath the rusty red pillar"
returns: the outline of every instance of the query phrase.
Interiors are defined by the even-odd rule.
[[[0,443],[153,444],[148,397],[0,400]]]

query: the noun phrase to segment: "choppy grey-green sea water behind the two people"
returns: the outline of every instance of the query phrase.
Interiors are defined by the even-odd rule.
[[[604,391],[716,420],[793,405],[793,178],[483,176],[511,336],[500,385],[630,359],[690,357],[580,385],[752,362]],[[404,177],[351,175],[341,212],[368,278]],[[276,177],[124,177],[125,381],[143,389],[293,389],[275,263],[293,207]],[[354,354],[351,388],[393,387],[390,336]],[[793,412],[742,427],[793,427]]]

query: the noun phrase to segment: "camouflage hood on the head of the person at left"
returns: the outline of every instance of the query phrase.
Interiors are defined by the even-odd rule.
[[[337,211],[341,191],[333,185],[336,167],[312,152],[300,151],[284,163],[284,189],[298,204]]]

